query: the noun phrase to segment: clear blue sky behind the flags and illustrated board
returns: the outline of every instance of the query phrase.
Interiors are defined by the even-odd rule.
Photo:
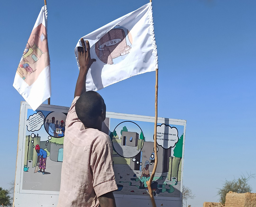
[[[146,0],[48,0],[53,105],[70,106],[79,38]],[[15,72],[43,0],[1,1],[0,186],[14,180],[20,101]],[[255,173],[256,1],[153,0],[159,55],[159,117],[187,120],[184,185],[188,204],[217,201],[225,179]],[[154,116],[155,73],[99,91],[107,111]],[[61,98],[59,97],[61,94]],[[123,97],[131,97],[126,102]],[[3,168],[5,170],[3,170]],[[250,181],[256,192],[256,179]]]

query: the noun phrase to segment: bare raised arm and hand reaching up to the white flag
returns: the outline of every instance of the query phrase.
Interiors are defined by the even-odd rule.
[[[80,71],[76,82],[76,89],[75,89],[75,97],[81,96],[81,94],[86,91],[85,89],[85,80],[86,75],[88,73],[89,68],[91,67],[91,64],[95,62],[95,59],[91,59],[90,54],[90,44],[88,41],[85,41],[83,38],[81,38],[82,46],[78,47],[78,61],[80,65]]]

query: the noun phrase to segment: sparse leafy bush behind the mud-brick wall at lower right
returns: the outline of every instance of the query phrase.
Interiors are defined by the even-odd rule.
[[[222,205],[226,202],[226,194],[230,191],[235,193],[248,193],[251,192],[251,186],[248,181],[251,178],[255,178],[255,174],[248,174],[247,176],[241,175],[238,179],[233,179],[231,181],[226,180],[223,187],[219,188],[218,195],[220,196],[220,202]]]

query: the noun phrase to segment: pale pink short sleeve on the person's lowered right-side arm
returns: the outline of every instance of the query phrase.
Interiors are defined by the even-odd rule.
[[[112,144],[108,136],[101,136],[92,146],[90,161],[93,188],[97,197],[118,189],[112,164]]]

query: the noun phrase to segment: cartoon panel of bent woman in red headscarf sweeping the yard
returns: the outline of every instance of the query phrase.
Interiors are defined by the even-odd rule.
[[[59,191],[66,116],[27,110],[22,190]]]

